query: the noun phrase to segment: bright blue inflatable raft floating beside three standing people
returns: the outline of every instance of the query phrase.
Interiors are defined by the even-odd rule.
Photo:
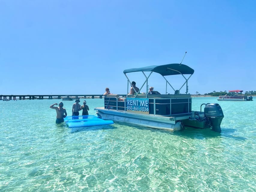
[[[69,128],[73,127],[89,127],[94,125],[110,125],[113,121],[103,120],[94,115],[83,115],[83,116],[67,116],[64,118]]]

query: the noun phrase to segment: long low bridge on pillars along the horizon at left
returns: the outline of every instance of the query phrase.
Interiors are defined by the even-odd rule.
[[[126,95],[126,94],[125,94]],[[124,97],[125,95],[120,95],[120,97]],[[0,95],[0,100],[3,99],[9,99],[9,100],[25,100],[25,99],[29,99],[29,100],[34,100],[34,99],[62,99],[62,98],[102,98],[103,95],[81,95],[81,94],[77,94],[77,95]]]

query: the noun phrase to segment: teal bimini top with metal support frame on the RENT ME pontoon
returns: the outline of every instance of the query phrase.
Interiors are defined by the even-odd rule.
[[[150,72],[148,76],[146,76],[146,74],[144,72]],[[148,66],[148,67],[140,67],[140,68],[133,68],[133,69],[126,69],[124,70],[124,74],[128,80],[127,82],[127,92],[129,91],[129,84],[131,84],[131,81],[129,80],[128,76],[126,75],[126,73],[132,73],[132,72],[142,72],[143,75],[145,76],[146,80],[143,83],[143,85],[141,86],[140,90],[143,88],[143,86],[146,83],[146,87],[148,89],[148,79],[149,76],[155,72],[155,73],[159,73],[160,75],[164,76],[169,76],[169,75],[182,75],[185,79],[184,84],[179,88],[179,90],[186,84],[186,94],[188,94],[188,79],[192,76],[192,74],[194,73],[194,69],[188,67],[187,65],[184,64],[178,64],[178,63],[173,63],[173,64],[165,64],[165,65],[152,65],[152,66]],[[184,75],[185,74],[190,74],[190,76],[188,78],[186,78]],[[167,79],[164,77],[164,79],[166,80],[166,93],[167,93],[167,83],[171,86],[171,88],[173,88],[173,86],[167,81]],[[132,86],[132,85],[131,85]],[[133,87],[133,86],[132,86]],[[134,88],[134,87],[133,87]],[[138,93],[140,92],[140,90],[137,92],[135,89],[134,91],[136,92],[135,97],[138,95]],[[173,90],[175,91],[175,89],[173,88]]]

